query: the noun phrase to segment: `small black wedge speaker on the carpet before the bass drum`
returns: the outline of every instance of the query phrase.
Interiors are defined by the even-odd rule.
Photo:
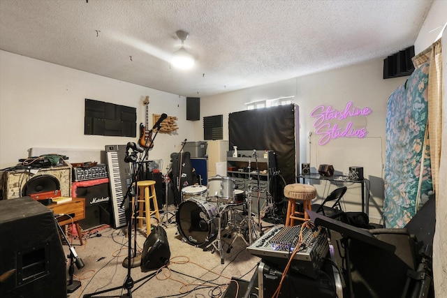
[[[166,231],[157,225],[147,237],[141,254],[141,271],[159,269],[167,265],[170,258],[170,250]]]

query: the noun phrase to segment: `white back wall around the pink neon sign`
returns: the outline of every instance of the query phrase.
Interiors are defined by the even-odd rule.
[[[300,107],[300,163],[308,162],[312,167],[331,164],[344,174],[348,174],[350,166],[364,167],[365,178],[371,181],[373,195],[369,216],[373,222],[379,222],[383,205],[386,105],[390,94],[406,80],[406,77],[388,80],[382,77],[383,59],[376,59],[261,87],[200,98],[200,117],[223,114],[223,138],[228,140],[228,113],[244,110],[244,103],[252,100],[295,96],[295,103]],[[355,120],[358,125],[367,127],[367,137],[339,138],[324,146],[319,145],[310,112],[318,105],[332,105],[335,110],[342,110],[349,101],[355,107],[372,109],[369,116]],[[202,140],[202,123],[198,122],[194,124],[195,137]],[[309,132],[312,133],[311,137],[308,137]],[[247,128],[248,133],[253,132]],[[335,189],[335,186],[326,184],[317,187],[318,196],[327,195],[329,187],[331,191]],[[360,211],[359,184],[349,186],[346,204],[348,209]]]

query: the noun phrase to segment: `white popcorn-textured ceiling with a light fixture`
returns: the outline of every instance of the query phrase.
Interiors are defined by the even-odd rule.
[[[413,45],[432,0],[0,0],[0,49],[182,96],[356,64]],[[185,47],[193,70],[171,68]]]

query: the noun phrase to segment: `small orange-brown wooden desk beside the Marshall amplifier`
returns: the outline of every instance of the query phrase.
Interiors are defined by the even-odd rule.
[[[84,198],[72,198],[71,202],[62,204],[50,204],[47,206],[52,209],[54,214],[68,214],[64,216],[57,216],[57,222],[59,225],[69,225],[72,222],[76,225],[78,231],[78,237],[80,244],[82,245],[82,229],[78,221],[85,218],[85,199]],[[71,217],[70,217],[71,216]],[[73,219],[72,219],[73,218]]]

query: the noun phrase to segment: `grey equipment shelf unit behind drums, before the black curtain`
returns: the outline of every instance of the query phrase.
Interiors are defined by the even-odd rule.
[[[277,170],[276,156],[274,151],[268,150],[266,158],[265,151],[253,150],[237,151],[237,157],[233,157],[233,151],[227,151],[227,176],[235,181],[235,188],[247,194],[251,187],[251,212],[258,214],[258,179],[260,188],[261,208],[270,192],[270,177]],[[257,162],[256,162],[257,161]],[[249,168],[250,167],[250,168]]]

